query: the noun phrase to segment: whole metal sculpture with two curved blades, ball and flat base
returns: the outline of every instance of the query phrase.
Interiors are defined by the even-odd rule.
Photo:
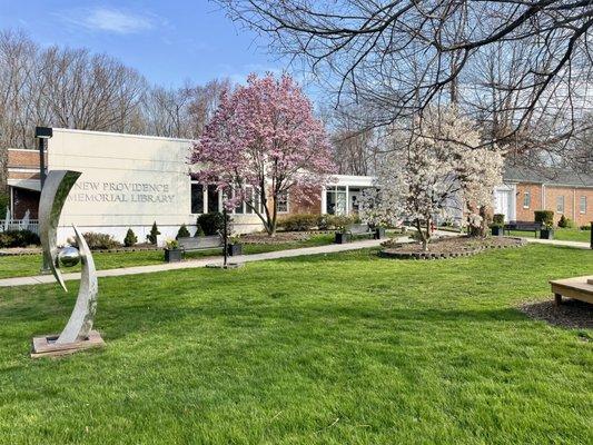
[[[52,170],[48,172],[39,204],[39,229],[43,258],[56,280],[68,291],[60,267],[82,265],[80,288],[70,319],[59,336],[33,338],[32,356],[60,355],[81,348],[102,345],[102,339],[92,329],[97,310],[98,283],[95,261],[87,241],[76,226],[73,246],[59,248],[57,245],[58,224],[68,194],[80,177],[79,171]]]

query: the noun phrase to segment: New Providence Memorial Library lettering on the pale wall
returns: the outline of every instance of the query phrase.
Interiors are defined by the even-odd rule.
[[[159,182],[101,182],[75,184],[68,196],[73,202],[139,202],[169,204],[175,199],[168,184]]]

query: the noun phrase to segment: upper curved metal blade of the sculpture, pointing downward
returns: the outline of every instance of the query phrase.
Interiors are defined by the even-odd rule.
[[[43,189],[41,190],[41,198],[39,199],[39,234],[41,247],[43,248],[43,257],[51,273],[66,291],[68,289],[57,266],[58,222],[60,221],[60,214],[66,198],[80,175],[82,175],[80,171],[71,170],[49,171],[43,184]]]

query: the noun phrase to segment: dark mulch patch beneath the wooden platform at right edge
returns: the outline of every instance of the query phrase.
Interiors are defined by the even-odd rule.
[[[593,329],[593,305],[572,298],[563,298],[556,306],[553,297],[547,300],[526,301],[518,309],[531,318],[547,322],[551,325]],[[592,338],[583,338],[591,342]]]

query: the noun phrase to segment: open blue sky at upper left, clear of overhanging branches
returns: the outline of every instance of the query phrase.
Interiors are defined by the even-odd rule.
[[[208,0],[0,0],[0,28],[109,53],[166,87],[285,68],[265,40]]]

